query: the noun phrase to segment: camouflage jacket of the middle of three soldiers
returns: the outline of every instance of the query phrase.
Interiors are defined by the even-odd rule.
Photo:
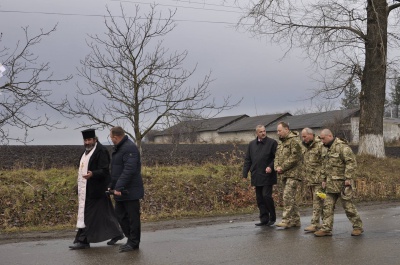
[[[303,142],[301,146],[303,151],[303,167],[301,170],[303,179],[310,185],[321,184],[323,181],[321,177],[323,148],[321,140],[317,136],[310,144]]]

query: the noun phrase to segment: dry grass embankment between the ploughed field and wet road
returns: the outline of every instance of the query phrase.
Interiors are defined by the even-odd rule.
[[[357,201],[400,198],[400,159],[357,160]],[[144,167],[143,221],[256,211],[254,191],[249,181],[242,181],[241,169],[241,163]],[[73,227],[76,177],[74,168],[0,171],[0,230]],[[277,185],[278,206],[281,190]],[[301,187],[300,194],[299,202],[310,205],[306,187]]]

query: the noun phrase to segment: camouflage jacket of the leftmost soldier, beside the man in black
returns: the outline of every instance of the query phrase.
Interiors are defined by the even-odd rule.
[[[301,143],[298,132],[290,131],[284,139],[279,139],[276,149],[274,167],[281,167],[283,173],[280,178],[294,178],[301,180],[300,170],[302,163]]]

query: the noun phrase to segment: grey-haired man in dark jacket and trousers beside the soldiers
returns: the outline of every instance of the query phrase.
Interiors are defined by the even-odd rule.
[[[257,137],[249,143],[243,165],[243,178],[251,172],[251,185],[255,186],[260,223],[257,226],[271,226],[276,221],[272,187],[277,183],[274,158],[278,143],[267,137],[265,127],[257,125]]]

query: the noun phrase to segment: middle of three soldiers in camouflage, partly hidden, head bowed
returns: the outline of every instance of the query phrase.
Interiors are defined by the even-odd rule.
[[[320,219],[322,218],[322,207],[324,205],[324,200],[316,195],[317,192],[322,192],[323,190],[323,179],[321,178],[321,152],[323,145],[310,128],[304,128],[301,131],[301,138],[303,139],[303,180],[310,187],[313,198],[311,225],[307,226],[304,231],[315,232],[321,227]]]

